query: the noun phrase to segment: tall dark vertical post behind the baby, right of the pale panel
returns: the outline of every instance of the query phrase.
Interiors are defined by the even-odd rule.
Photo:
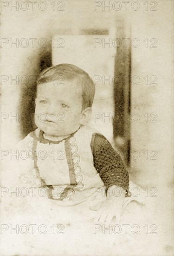
[[[130,81],[131,81],[131,48],[125,44],[130,39],[130,29],[123,20],[117,26],[117,53],[115,58],[114,102],[115,115],[113,119],[114,141],[121,152],[122,159],[130,163]]]

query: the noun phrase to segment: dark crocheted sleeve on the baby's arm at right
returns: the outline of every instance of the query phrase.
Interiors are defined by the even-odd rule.
[[[99,172],[106,187],[112,185],[122,187],[129,196],[129,174],[110,142],[101,134],[93,134],[91,140],[94,167]]]

